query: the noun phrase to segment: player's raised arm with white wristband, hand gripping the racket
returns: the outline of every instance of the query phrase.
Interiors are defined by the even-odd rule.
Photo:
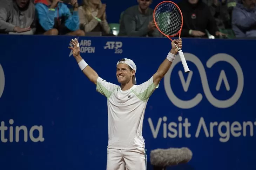
[[[159,66],[157,69],[156,73],[153,75],[153,82],[155,87],[158,86],[160,83],[161,79],[164,77],[164,75],[168,72],[169,68],[171,67],[171,64],[173,63],[173,60],[178,53],[178,49],[176,45],[179,48],[182,48],[182,40],[180,39],[175,39],[171,42],[171,50],[168,53],[166,59],[162,62],[162,64]]]

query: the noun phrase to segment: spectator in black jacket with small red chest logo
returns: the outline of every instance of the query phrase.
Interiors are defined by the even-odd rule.
[[[206,30],[213,36],[224,36],[218,31],[209,7],[202,0],[183,0],[177,4],[183,15],[181,37],[207,37]]]

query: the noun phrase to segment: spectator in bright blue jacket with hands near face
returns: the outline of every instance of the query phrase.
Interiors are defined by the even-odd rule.
[[[73,14],[60,0],[35,0],[38,27],[36,34],[84,36],[79,29],[78,2],[67,0],[74,7]]]

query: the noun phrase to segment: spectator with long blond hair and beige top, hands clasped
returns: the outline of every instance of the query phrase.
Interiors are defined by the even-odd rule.
[[[80,29],[85,32],[101,32],[102,36],[114,36],[110,34],[106,20],[106,4],[102,4],[100,0],[83,0],[78,12]]]

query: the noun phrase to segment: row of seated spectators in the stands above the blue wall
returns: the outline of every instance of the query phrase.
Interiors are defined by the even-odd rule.
[[[153,20],[152,0],[137,0],[113,34],[101,0],[1,0],[0,33],[23,35],[163,37]],[[68,5],[72,8],[68,8]],[[256,37],[256,0],[180,0],[181,37]],[[93,34],[95,33],[95,34]],[[97,33],[97,34],[96,34]],[[98,34],[99,33],[99,34]]]

